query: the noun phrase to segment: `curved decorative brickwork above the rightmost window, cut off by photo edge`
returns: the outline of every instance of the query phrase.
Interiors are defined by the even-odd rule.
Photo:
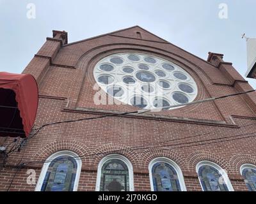
[[[232,173],[240,174],[240,168],[243,164],[256,165],[256,156],[252,156],[251,154],[236,154],[229,160]]]

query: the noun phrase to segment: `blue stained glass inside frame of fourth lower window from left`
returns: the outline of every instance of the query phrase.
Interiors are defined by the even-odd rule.
[[[198,175],[204,191],[228,191],[227,184],[216,168],[209,165],[201,166]]]

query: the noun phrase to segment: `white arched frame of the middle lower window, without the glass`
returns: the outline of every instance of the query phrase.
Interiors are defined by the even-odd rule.
[[[157,158],[153,159],[152,161],[150,161],[150,163],[148,164],[151,191],[154,191],[152,167],[154,166],[154,164],[159,163],[159,162],[170,164],[174,168],[174,170],[177,173],[178,179],[179,179],[179,184],[180,184],[181,191],[187,191],[186,184],[185,184],[185,181],[184,181],[184,177],[183,177],[183,174],[182,174],[182,171],[181,171],[179,165],[176,164],[171,159],[168,159],[166,157],[157,157]]]

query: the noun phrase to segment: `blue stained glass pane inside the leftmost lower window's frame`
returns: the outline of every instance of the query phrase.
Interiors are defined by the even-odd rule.
[[[47,169],[41,191],[73,191],[77,163],[70,156],[53,159]]]

